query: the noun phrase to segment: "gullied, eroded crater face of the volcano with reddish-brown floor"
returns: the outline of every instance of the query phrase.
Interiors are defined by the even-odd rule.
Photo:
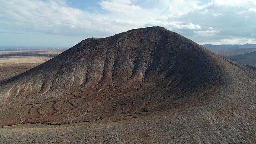
[[[0,126],[111,122],[179,111],[212,98],[228,82],[225,64],[162,27],[87,38],[0,83]]]

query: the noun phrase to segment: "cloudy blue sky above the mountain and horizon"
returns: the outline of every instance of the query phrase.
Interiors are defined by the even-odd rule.
[[[256,44],[256,0],[0,0],[0,46],[69,48],[163,26],[198,44]]]

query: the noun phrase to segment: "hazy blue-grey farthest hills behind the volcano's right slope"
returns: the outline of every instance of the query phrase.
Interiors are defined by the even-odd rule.
[[[232,56],[256,51],[256,44],[204,44],[202,46],[221,56]]]

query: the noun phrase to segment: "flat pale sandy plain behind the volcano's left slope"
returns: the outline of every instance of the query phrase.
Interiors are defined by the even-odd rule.
[[[60,50],[0,50],[0,82],[38,66],[63,52]]]

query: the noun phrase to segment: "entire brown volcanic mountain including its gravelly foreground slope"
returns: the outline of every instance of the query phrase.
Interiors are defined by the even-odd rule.
[[[0,92],[1,126],[22,124],[6,143],[256,142],[256,75],[162,27],[83,40]]]

